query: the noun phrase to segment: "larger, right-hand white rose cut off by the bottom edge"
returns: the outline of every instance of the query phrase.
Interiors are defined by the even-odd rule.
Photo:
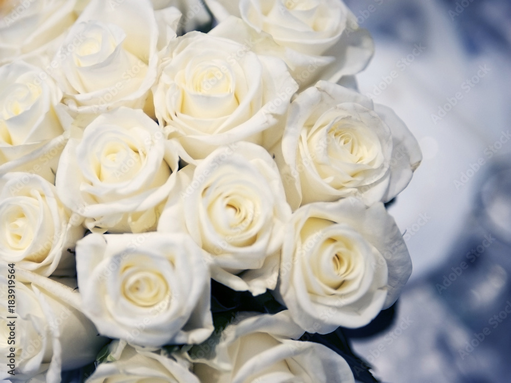
[[[304,331],[287,311],[275,315],[241,313],[221,333],[210,358],[193,359],[194,373],[208,383],[354,383],[350,366],[331,349],[301,342]]]

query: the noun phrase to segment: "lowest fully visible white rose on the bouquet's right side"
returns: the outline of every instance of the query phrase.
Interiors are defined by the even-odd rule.
[[[286,227],[276,297],[308,332],[362,327],[399,297],[412,264],[382,203],[299,208]]]

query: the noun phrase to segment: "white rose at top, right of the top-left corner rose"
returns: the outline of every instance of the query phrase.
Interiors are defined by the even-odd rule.
[[[149,0],[92,0],[55,55],[72,112],[143,108],[156,80],[158,25]]]

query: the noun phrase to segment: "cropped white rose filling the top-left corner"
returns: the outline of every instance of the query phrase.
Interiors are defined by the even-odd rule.
[[[76,0],[6,0],[0,8],[0,64],[47,65],[76,20]]]

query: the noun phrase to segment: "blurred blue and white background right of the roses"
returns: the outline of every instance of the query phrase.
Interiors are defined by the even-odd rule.
[[[392,325],[354,339],[387,383],[511,381],[511,2],[346,0],[376,43],[359,89],[424,155],[389,207],[413,274]]]

